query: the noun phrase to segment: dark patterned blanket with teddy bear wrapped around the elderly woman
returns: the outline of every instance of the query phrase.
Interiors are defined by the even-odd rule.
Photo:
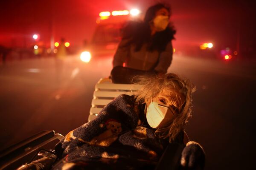
[[[154,129],[145,121],[144,108],[135,103],[134,96],[118,96],[96,119],[70,131],[56,145],[55,151],[63,159],[55,169],[106,167],[113,162],[122,169],[155,165],[168,141],[154,136]]]

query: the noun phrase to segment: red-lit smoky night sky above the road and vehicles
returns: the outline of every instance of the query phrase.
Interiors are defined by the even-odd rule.
[[[27,47],[35,33],[40,34],[40,40],[49,45],[52,33],[55,41],[64,37],[72,46],[81,46],[83,40],[90,41],[100,11],[138,8],[145,12],[148,6],[157,2],[164,1],[1,1],[0,45]],[[241,27],[248,27],[255,20],[252,17],[253,1],[173,0],[168,3],[172,7],[171,20],[177,29],[174,46],[198,46],[204,42],[213,42],[220,48],[234,48]],[[248,32],[247,28],[243,29]]]

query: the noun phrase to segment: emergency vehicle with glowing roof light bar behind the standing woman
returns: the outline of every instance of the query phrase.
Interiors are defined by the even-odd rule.
[[[113,56],[121,40],[121,28],[129,20],[140,20],[140,14],[138,9],[100,12],[92,40],[80,59],[89,62],[91,58]]]

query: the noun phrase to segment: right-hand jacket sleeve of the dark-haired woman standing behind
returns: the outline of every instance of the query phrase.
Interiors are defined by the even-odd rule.
[[[172,41],[170,41],[166,46],[166,50],[160,53],[158,64],[154,70],[157,71],[158,73],[166,74],[167,69],[172,63],[172,54],[173,54]]]

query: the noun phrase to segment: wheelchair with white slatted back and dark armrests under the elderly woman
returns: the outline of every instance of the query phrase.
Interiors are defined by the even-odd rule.
[[[100,79],[95,85],[88,121],[92,121],[120,94],[131,95],[140,85],[113,84],[109,78]],[[52,131],[42,131],[0,152],[0,170],[50,170],[60,159],[55,154],[55,144],[64,136]],[[185,146],[169,144],[155,170],[180,169],[180,156]]]

